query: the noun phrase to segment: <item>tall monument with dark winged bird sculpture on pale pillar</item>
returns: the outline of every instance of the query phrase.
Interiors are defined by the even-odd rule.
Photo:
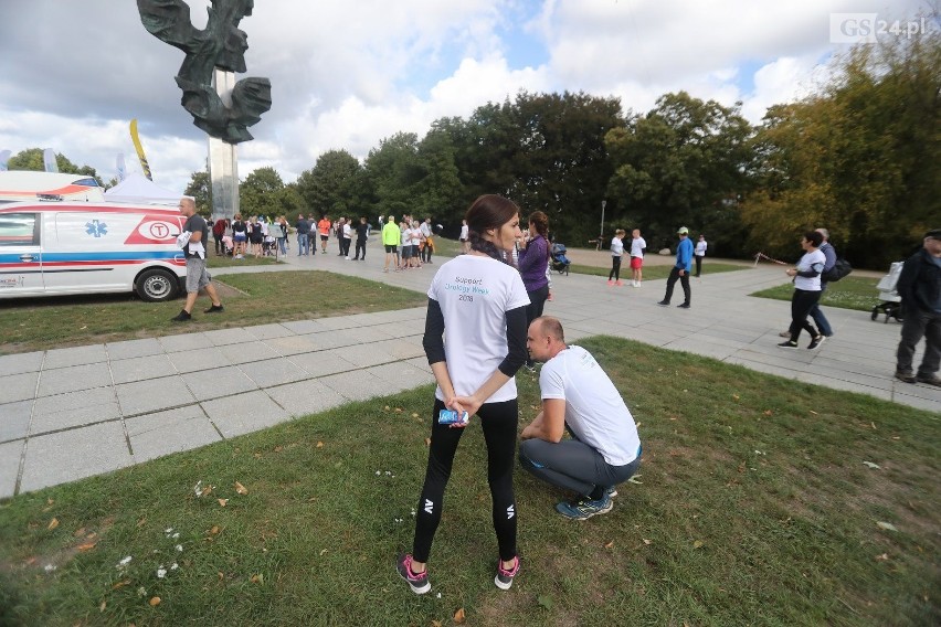
[[[187,56],[177,74],[180,103],[193,124],[209,135],[209,180],[212,215],[239,213],[239,169],[235,145],[252,139],[250,126],[272,107],[267,78],[235,81],[245,72],[249,38],[239,22],[252,14],[254,0],[211,0],[209,21],[199,30],[183,0],[137,0],[147,32],[182,50]]]

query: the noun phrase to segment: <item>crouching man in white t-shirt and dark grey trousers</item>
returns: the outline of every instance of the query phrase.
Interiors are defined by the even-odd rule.
[[[544,365],[539,374],[542,411],[522,429],[520,463],[537,478],[577,493],[556,506],[565,518],[611,511],[614,487],[641,466],[634,417],[591,353],[565,346],[558,319],[533,320],[526,341],[532,359]],[[571,439],[562,439],[567,429]]]

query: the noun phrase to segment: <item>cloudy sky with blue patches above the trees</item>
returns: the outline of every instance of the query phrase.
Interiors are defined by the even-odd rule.
[[[757,123],[847,49],[831,41],[832,13],[891,24],[930,1],[256,0],[236,78],[269,78],[273,105],[239,146],[239,172],[271,166],[290,182],[327,150],[363,159],[397,131],[422,137],[522,89],[638,113],[686,89],[741,102]],[[202,28],[209,0],[188,3]],[[0,150],[52,148],[107,181],[119,152],[140,171],[137,118],[156,182],[182,192],[204,168],[205,135],[173,81],[183,53],[144,29],[134,0],[2,0],[0,59]]]

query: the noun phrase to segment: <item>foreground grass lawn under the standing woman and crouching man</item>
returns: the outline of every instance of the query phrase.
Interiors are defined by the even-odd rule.
[[[937,414],[616,338],[580,343],[624,392],[644,460],[614,509],[583,522],[554,512],[569,495],[518,471],[509,592],[493,584],[475,423],[432,592],[394,573],[427,455],[425,386],[3,501],[0,625],[424,626],[458,609],[494,626],[941,621]],[[526,423],[537,381],[518,381]]]

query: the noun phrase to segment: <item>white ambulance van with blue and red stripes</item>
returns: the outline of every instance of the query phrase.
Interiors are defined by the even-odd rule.
[[[0,299],[135,291],[170,300],[186,280],[176,208],[50,200],[0,204]]]

